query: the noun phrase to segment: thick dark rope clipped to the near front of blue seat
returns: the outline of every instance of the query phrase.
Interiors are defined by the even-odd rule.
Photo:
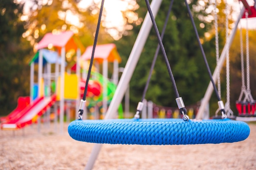
[[[170,66],[170,63],[168,61],[168,58],[167,58],[167,55],[166,55],[166,52],[165,52],[165,49],[164,49],[164,44],[162,42],[162,39],[160,37],[160,33],[158,31],[158,28],[157,28],[157,24],[155,22],[155,18],[153,16],[153,13],[151,11],[151,8],[150,8],[150,4],[148,2],[148,0],[145,0],[146,2],[146,6],[148,8],[148,13],[150,15],[150,18],[151,18],[151,21],[152,21],[152,24],[153,24],[153,27],[155,29],[155,33],[157,35],[157,40],[158,40],[158,43],[159,43],[159,46],[160,46],[160,49],[162,51],[162,54],[164,55],[164,61],[165,61],[165,64],[167,66],[167,70],[168,70],[168,73],[169,73],[169,76],[171,78],[171,82],[173,84],[173,90],[174,90],[174,93],[175,93],[175,96],[176,96],[176,102],[177,102],[177,99],[181,98],[180,95],[179,95],[179,92],[178,92],[178,89],[177,89],[177,86],[176,86],[176,83],[175,83],[175,79],[173,77],[173,73],[171,71],[171,66]],[[183,102],[183,101],[182,101]],[[177,103],[178,104],[178,103]],[[179,106],[179,105],[178,105]],[[180,109],[180,112],[182,113],[183,115],[183,120],[184,121],[189,121],[189,117],[186,115],[186,109],[185,108],[179,108]]]

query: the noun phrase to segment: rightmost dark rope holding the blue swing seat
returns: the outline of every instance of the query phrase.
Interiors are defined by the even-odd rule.
[[[213,77],[212,77],[212,75],[211,75],[211,70],[210,70],[209,64],[208,64],[208,62],[207,62],[205,53],[204,53],[204,49],[203,49],[202,44],[201,44],[201,42],[200,42],[200,38],[199,38],[199,35],[198,35],[198,31],[197,31],[197,29],[196,29],[195,22],[194,22],[194,20],[193,20],[193,16],[192,16],[192,14],[191,14],[191,11],[190,11],[190,8],[189,8],[189,4],[188,4],[188,2],[187,2],[186,0],[185,0],[185,4],[186,4],[186,8],[187,8],[187,10],[188,10],[188,12],[189,12],[189,18],[190,18],[190,20],[191,20],[191,22],[192,22],[192,25],[193,25],[193,28],[194,28],[194,31],[195,31],[195,35],[196,35],[196,38],[197,38],[197,40],[198,40],[198,44],[199,44],[199,46],[200,46],[200,50],[201,50],[201,53],[202,53],[203,58],[204,58],[204,63],[205,63],[205,65],[206,65],[206,67],[207,67],[207,71],[208,71],[209,77],[210,77],[210,79],[211,79],[211,83],[212,83],[212,85],[213,85],[213,89],[214,89],[215,94],[216,94],[216,96],[217,96],[217,98],[218,98],[218,101],[219,101],[219,102],[222,102],[222,100],[220,99],[220,96],[218,95],[218,90],[217,90],[217,88],[216,88],[216,85],[215,85],[215,83],[214,83],[214,81],[213,81]],[[223,103],[223,102],[222,102],[222,103]],[[220,108],[220,105],[219,105],[219,108]],[[223,110],[222,108],[220,108],[220,111],[221,111],[224,115],[226,114],[226,113],[225,113],[225,110]]]

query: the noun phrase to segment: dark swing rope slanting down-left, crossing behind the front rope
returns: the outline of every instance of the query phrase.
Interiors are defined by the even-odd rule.
[[[173,6],[173,1],[174,0],[172,0],[171,3],[170,3],[169,9],[168,9],[168,12],[167,12],[167,15],[166,15],[166,19],[165,19],[164,26],[163,26],[162,33],[161,33],[161,39],[164,38],[164,33],[165,33],[165,30],[166,30],[166,26],[167,26],[167,23],[168,23],[169,16],[171,14],[171,9],[172,9],[172,6]],[[141,105],[141,103],[143,104],[143,100],[145,99],[146,92],[148,90],[148,85],[149,85],[149,82],[150,82],[150,78],[152,76],[152,73],[153,73],[153,70],[154,70],[154,67],[155,67],[155,62],[157,60],[157,55],[159,54],[159,50],[160,50],[160,45],[157,44],[157,50],[155,51],[153,62],[152,62],[151,67],[150,67],[150,71],[149,71],[149,74],[148,74],[148,79],[147,79],[147,82],[146,82],[146,86],[144,88],[144,91],[143,91],[143,94],[142,94],[142,97],[141,97],[141,101],[138,103],[137,111],[136,111],[136,114],[134,116],[136,119],[139,119],[139,114],[142,111],[143,107],[141,108],[139,105]],[[141,110],[139,110],[139,109],[141,109]]]

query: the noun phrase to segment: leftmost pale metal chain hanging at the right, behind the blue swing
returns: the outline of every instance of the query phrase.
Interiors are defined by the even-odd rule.
[[[218,33],[218,16],[217,16],[217,2],[215,0],[214,3],[214,26],[215,26],[215,49],[216,49],[216,65],[218,67],[217,72],[217,86],[218,86],[218,94],[221,98],[221,86],[220,86],[220,67],[219,67],[219,59],[220,59],[220,50],[219,50],[219,33]]]

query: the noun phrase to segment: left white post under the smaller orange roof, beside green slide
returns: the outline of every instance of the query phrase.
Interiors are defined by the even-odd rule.
[[[103,60],[103,77],[105,77],[103,81],[103,115],[106,115],[108,109],[108,88],[107,88],[107,80],[108,80],[108,60]]]

